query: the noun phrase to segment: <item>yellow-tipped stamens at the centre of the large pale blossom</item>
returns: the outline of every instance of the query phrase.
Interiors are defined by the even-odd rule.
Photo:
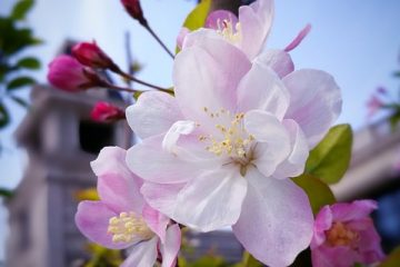
[[[232,161],[240,165],[249,164],[251,146],[254,137],[249,135],[243,126],[244,113],[231,115],[229,110],[220,109],[217,112],[210,112],[208,108],[203,111],[212,119],[223,121],[216,123],[218,136],[207,135],[200,136],[199,140],[208,142],[206,150],[216,156],[227,156]]]

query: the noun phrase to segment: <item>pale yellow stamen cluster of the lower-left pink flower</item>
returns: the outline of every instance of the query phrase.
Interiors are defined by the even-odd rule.
[[[112,235],[113,243],[131,243],[136,237],[150,239],[154,236],[143,218],[134,212],[121,212],[110,218],[108,234]]]

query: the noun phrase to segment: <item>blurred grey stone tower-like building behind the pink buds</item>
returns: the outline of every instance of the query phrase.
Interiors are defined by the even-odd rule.
[[[97,101],[123,107],[108,90],[66,93],[37,86],[32,106],[16,138],[28,151],[29,166],[16,195],[7,202],[10,234],[8,267],[67,267],[84,257],[87,239],[74,226],[74,194],[96,185],[89,162],[104,146],[128,148],[128,125],[97,123]]]

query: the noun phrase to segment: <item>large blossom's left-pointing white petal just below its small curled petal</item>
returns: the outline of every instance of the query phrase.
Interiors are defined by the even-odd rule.
[[[129,168],[143,180],[159,184],[184,182],[201,172],[202,165],[206,165],[201,159],[193,155],[181,158],[168,152],[162,149],[162,140],[163,136],[156,136],[130,148],[127,154]]]

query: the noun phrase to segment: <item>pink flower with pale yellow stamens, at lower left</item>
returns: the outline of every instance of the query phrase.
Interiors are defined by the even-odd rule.
[[[180,248],[180,228],[149,207],[139,189],[142,180],[126,166],[126,151],[107,147],[91,162],[98,176],[100,201],[81,201],[76,215],[80,231],[91,241],[111,249],[130,247],[122,267],[173,267]]]

